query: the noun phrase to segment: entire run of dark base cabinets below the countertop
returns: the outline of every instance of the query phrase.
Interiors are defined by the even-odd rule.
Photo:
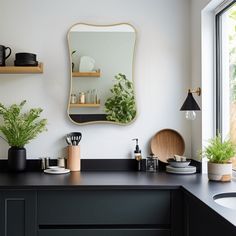
[[[0,190],[0,236],[235,236],[182,189]]]

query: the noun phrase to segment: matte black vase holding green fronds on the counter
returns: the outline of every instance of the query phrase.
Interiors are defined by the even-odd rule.
[[[20,172],[26,169],[26,149],[10,147],[8,149],[8,168],[11,171]]]

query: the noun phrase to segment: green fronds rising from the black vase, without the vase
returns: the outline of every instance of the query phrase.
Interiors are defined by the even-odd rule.
[[[30,140],[46,131],[47,120],[39,119],[41,108],[32,108],[23,113],[22,108],[26,101],[22,101],[19,105],[13,104],[5,107],[0,103],[0,131],[5,139],[12,147],[24,147]]]

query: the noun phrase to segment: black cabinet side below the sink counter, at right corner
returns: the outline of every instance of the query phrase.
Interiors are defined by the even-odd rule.
[[[185,236],[235,236],[236,228],[195,197],[185,194]]]

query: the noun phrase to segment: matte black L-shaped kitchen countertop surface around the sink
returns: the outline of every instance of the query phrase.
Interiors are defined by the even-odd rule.
[[[236,227],[236,210],[216,204],[213,196],[236,192],[231,182],[208,181],[207,175],[173,175],[164,172],[73,172],[49,175],[41,172],[0,173],[0,189],[179,189],[191,193]]]

